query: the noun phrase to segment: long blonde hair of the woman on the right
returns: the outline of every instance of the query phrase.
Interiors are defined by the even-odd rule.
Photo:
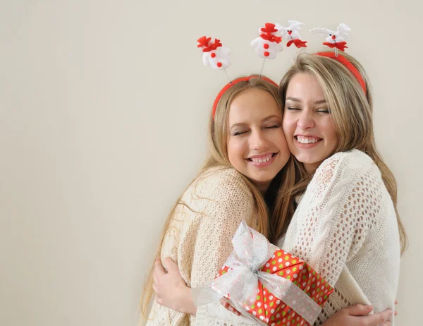
[[[360,72],[366,84],[365,93],[353,73],[340,62],[326,56],[302,52],[298,54],[295,63],[288,69],[281,80],[279,90],[283,107],[285,107],[288,84],[295,74],[310,73],[317,78],[324,92],[326,102],[331,109],[331,116],[338,134],[339,143],[335,152],[352,149],[361,150],[369,155],[379,167],[382,179],[389,195],[391,195],[396,210],[401,253],[403,253],[407,248],[407,234],[397,210],[396,179],[376,150],[372,118],[373,102],[369,89],[369,78],[357,60],[348,54],[343,53],[342,55]],[[297,160],[295,160],[295,166],[302,179],[293,189],[288,189],[286,195],[290,200],[304,193],[305,188],[307,188],[309,181],[312,179],[312,175],[307,174],[303,165]]]

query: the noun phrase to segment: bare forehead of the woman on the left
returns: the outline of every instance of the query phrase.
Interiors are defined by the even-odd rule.
[[[276,99],[266,90],[247,88],[234,97],[229,107],[229,125],[252,123],[267,116],[282,116]]]

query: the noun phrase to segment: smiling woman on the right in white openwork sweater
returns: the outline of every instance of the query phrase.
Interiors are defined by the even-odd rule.
[[[336,43],[336,37],[331,40]],[[374,145],[367,76],[346,54],[303,53],[281,80],[280,92],[283,132],[300,181],[276,200],[274,211],[281,203],[289,207],[287,198],[298,207],[293,217],[289,209],[272,215],[271,234],[281,238],[281,248],[310,262],[334,285],[317,325],[360,325],[363,317],[351,319],[348,308],[336,313],[355,303],[372,303],[379,314],[365,317],[366,322],[378,325],[388,318],[389,312],[381,311],[394,305],[406,236],[396,212],[395,179]],[[157,301],[193,313],[178,270],[171,260],[166,267],[168,274],[156,264]],[[182,299],[180,305],[175,298]],[[353,309],[360,315],[369,312],[363,306]],[[221,310],[201,315],[215,321],[220,316],[226,325],[250,325],[247,320],[232,322]]]

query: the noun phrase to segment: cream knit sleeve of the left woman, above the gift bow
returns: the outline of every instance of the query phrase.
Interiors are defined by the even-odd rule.
[[[214,279],[233,250],[232,238],[240,222],[251,223],[255,210],[252,194],[238,172],[213,173],[218,175],[205,176],[189,194],[187,210],[192,212],[183,228],[178,263],[190,270],[190,287]]]

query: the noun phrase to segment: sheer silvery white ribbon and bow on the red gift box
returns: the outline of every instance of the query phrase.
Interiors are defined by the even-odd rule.
[[[265,236],[248,227],[245,221],[235,232],[232,243],[234,250],[225,262],[225,266],[230,268],[228,272],[214,279],[207,288],[193,289],[197,306],[229,295],[234,308],[251,318],[245,306],[256,301],[258,282],[261,282],[274,296],[313,325],[321,307],[288,279],[259,270],[278,248],[269,243]]]

